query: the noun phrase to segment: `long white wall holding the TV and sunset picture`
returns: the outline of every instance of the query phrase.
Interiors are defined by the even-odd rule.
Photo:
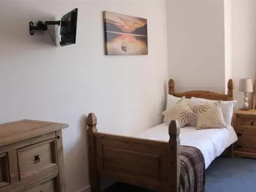
[[[78,8],[77,44],[54,47],[29,34],[29,21]],[[102,11],[148,19],[148,55],[105,56]],[[164,1],[3,1],[0,3],[0,123],[29,118],[69,123],[63,131],[67,191],[87,187],[84,117],[98,130],[131,134],[158,124],[167,79]]]

